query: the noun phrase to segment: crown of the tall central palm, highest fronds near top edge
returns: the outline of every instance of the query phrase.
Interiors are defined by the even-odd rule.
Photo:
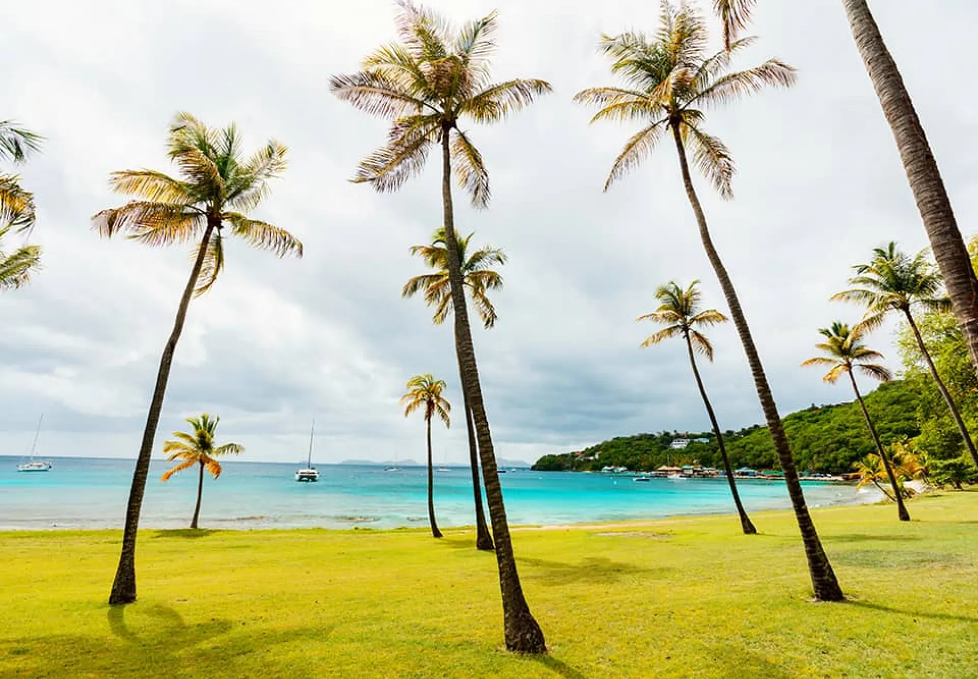
[[[473,205],[485,207],[489,174],[459,121],[498,122],[550,92],[551,86],[532,79],[492,82],[495,13],[455,30],[409,0],[398,5],[399,42],[367,57],[360,72],[330,80],[340,99],[392,120],[387,145],[360,163],[353,181],[369,182],[377,191],[396,191],[422,170],[431,146],[447,134],[456,179]]]

